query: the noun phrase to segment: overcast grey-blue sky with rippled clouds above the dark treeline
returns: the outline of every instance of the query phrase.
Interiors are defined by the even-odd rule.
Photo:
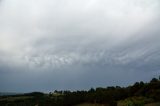
[[[0,91],[128,86],[160,75],[159,0],[0,0]]]

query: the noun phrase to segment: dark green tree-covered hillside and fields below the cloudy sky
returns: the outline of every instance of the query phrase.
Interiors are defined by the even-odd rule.
[[[0,96],[0,106],[160,106],[160,79],[128,87]],[[153,104],[155,103],[155,104]]]

